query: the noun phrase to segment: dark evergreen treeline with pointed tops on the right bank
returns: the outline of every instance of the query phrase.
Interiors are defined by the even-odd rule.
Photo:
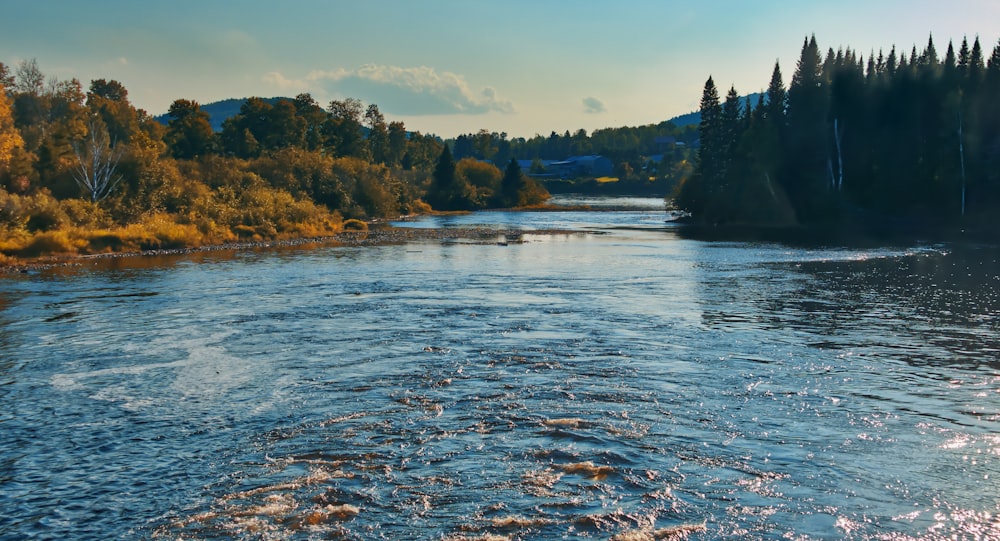
[[[805,40],[790,85],[775,64],[756,106],[710,77],[695,174],[677,204],[711,224],[996,226],[1000,44],[933,38],[907,55],[824,56]]]

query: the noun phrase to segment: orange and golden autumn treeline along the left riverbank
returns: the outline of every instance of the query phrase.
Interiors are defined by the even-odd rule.
[[[452,162],[439,138],[356,99],[250,98],[218,133],[191,100],[174,101],[169,117],[164,126],[134,107],[114,80],[85,91],[34,60],[0,63],[0,259],[321,236],[428,203],[548,197],[519,169],[506,178]]]

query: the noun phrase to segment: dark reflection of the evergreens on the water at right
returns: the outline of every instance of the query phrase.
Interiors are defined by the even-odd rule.
[[[996,248],[782,255],[789,258],[704,269],[703,322],[748,339],[779,330],[813,347],[874,350],[913,364],[1000,366]]]

